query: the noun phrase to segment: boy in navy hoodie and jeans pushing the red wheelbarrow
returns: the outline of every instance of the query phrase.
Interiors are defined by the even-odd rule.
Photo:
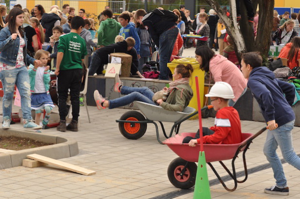
[[[261,66],[262,62],[263,59],[257,52],[246,53],[241,61],[241,70],[244,77],[249,78],[248,87],[258,102],[268,127],[264,154],[273,169],[276,185],[265,188],[265,193],[288,195],[289,189],[276,149],[279,146],[283,159],[300,169],[300,157],[293,150],[291,133],[295,122],[295,114],[291,107],[295,98],[295,88],[276,79],[272,71]]]

